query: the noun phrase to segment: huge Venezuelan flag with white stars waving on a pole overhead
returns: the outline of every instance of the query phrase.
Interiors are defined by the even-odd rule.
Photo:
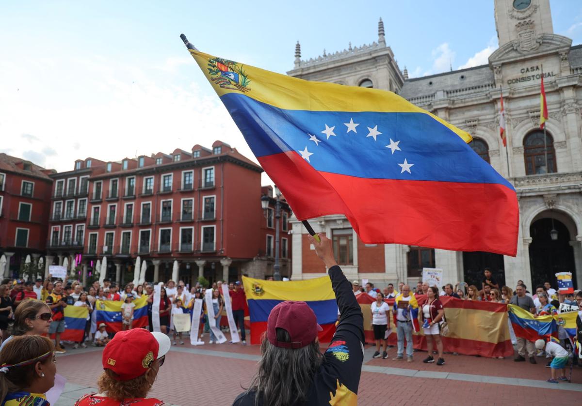
[[[393,92],[191,55],[300,220],[341,213],[364,243],[516,255],[513,186],[471,136]]]

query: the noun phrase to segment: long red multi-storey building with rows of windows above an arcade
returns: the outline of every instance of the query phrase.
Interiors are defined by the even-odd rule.
[[[190,152],[175,149],[119,162],[76,161],[72,172],[54,176],[51,233],[56,237],[50,254],[76,258],[83,275],[107,256],[108,277],[121,283],[133,279],[138,255],[147,261],[150,282],[168,280],[175,260],[186,283],[201,275],[211,282],[269,276],[275,219],[272,208],[267,215],[261,208],[261,194],[272,194],[270,187],[261,189],[261,173],[260,166],[221,141],[212,149],[194,145]],[[74,195],[57,198],[59,190],[68,193],[69,182]],[[290,276],[285,207],[281,274]],[[61,217],[59,209],[65,213]]]

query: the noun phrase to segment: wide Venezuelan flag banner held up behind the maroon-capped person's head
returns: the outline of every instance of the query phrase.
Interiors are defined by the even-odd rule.
[[[251,344],[260,344],[267,330],[271,309],[286,300],[304,301],[315,313],[322,343],[329,343],[335,333],[338,304],[328,276],[316,279],[276,282],[243,276],[244,293],[249,304]]]

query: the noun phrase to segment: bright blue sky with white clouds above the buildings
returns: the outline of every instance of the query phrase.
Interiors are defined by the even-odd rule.
[[[554,32],[581,44],[582,2],[551,6]],[[254,159],[179,34],[285,73],[297,40],[303,59],[370,44],[379,17],[411,77],[482,65],[498,46],[492,0],[5,2],[0,152],[63,171],[88,156],[120,161],[222,140]]]

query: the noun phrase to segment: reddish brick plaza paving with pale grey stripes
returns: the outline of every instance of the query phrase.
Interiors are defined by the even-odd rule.
[[[205,334],[208,340],[208,334]],[[68,349],[58,355],[58,372],[68,383],[57,406],[94,391],[101,369],[102,348]],[[572,383],[545,382],[549,368],[508,359],[445,355],[446,365],[423,364],[426,352],[415,352],[414,362],[372,359],[365,346],[359,405],[577,405],[582,398],[582,368],[574,366]],[[150,396],[168,405],[230,405],[249,383],[260,358],[258,346],[205,344],[172,346]],[[568,369],[566,370],[568,372]]]

